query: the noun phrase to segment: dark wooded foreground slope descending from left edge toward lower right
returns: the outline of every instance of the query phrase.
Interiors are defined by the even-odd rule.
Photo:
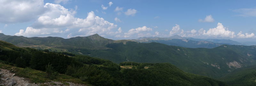
[[[64,82],[74,80],[72,82],[95,86],[225,86],[223,82],[183,72],[169,63],[132,63],[137,66],[132,69],[121,69],[118,64],[108,60],[20,48],[4,41],[0,41],[0,48],[1,68],[12,69],[12,72],[18,76],[29,78],[31,82],[36,83],[53,79],[45,76],[52,76],[56,71],[65,75],[58,74],[53,80]]]

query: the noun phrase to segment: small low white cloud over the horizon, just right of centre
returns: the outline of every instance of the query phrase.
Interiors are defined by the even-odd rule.
[[[138,27],[136,29],[130,29],[128,32],[124,33],[124,37],[130,37],[131,35],[138,33],[137,35],[140,34],[140,36],[143,35],[143,33],[141,32],[148,32],[148,31],[152,31],[152,28],[148,28],[147,26],[143,26],[143,27]],[[148,35],[148,34],[147,34]],[[145,36],[145,35],[144,35]]]

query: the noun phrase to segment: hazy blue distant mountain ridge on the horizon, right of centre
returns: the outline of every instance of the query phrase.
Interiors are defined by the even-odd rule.
[[[140,37],[133,39],[141,43],[157,42],[171,46],[180,46],[188,48],[214,48],[223,44],[227,45],[243,45],[242,43],[229,40],[229,39],[194,39],[181,37],[179,35],[173,35],[171,37],[160,38],[160,37]]]

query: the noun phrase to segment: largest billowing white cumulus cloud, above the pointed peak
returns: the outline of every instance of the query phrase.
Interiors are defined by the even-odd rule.
[[[47,13],[37,18],[31,27],[20,30],[15,35],[46,36],[69,31],[73,31],[73,33],[69,34],[68,37],[88,36],[95,33],[104,35],[113,32],[113,29],[117,27],[117,25],[106,21],[104,18],[96,16],[93,11],[89,12],[86,18],[76,18],[74,17],[74,11],[69,11],[59,4],[46,3],[44,7],[49,9]],[[120,30],[121,28],[116,33],[120,33]],[[113,34],[116,33],[113,32]]]

